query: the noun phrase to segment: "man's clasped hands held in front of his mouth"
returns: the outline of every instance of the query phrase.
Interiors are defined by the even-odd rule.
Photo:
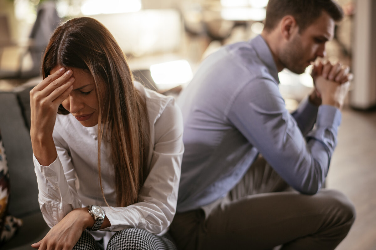
[[[329,61],[317,61],[311,73],[315,83],[315,89],[309,96],[311,103],[342,108],[352,78],[349,71],[350,68],[341,63],[333,65]]]

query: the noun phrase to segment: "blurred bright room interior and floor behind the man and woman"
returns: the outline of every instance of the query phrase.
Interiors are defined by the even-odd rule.
[[[354,79],[343,111],[327,187],[356,205],[358,218],[341,250],[376,249],[376,11],[374,0],[338,0],[345,12],[327,58],[350,65]],[[0,91],[41,81],[40,61],[55,27],[91,16],[114,35],[136,80],[177,96],[200,62],[220,46],[257,36],[268,0],[0,0]],[[312,89],[309,69],[279,73],[293,110]],[[235,79],[236,80],[236,79]],[[0,118],[1,119],[1,118]]]

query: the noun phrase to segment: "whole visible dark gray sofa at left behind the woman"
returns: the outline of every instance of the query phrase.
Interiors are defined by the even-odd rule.
[[[8,212],[23,220],[17,233],[2,250],[33,249],[49,231],[38,203],[38,185],[34,172],[30,141],[30,96],[32,87],[0,91],[0,130],[8,162],[10,195]]]

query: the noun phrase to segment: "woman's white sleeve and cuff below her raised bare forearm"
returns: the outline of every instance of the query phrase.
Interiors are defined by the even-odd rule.
[[[74,208],[82,207],[76,190],[76,175],[71,158],[63,147],[56,145],[56,150],[58,157],[49,166],[40,165],[33,155],[39,206],[50,228]]]

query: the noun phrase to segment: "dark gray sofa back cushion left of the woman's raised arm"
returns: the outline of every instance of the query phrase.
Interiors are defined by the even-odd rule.
[[[30,131],[25,125],[16,93],[0,92],[0,128],[11,184],[9,212],[20,217],[39,211]]]

